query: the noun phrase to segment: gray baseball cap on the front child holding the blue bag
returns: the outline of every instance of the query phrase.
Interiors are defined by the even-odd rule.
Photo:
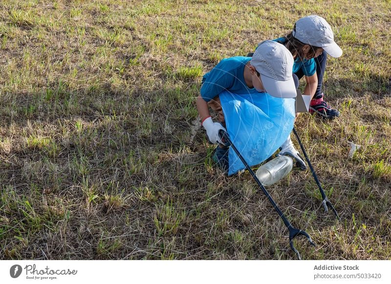
[[[250,64],[261,74],[265,91],[277,98],[295,98],[296,87],[292,77],[293,57],[281,43],[262,41]]]

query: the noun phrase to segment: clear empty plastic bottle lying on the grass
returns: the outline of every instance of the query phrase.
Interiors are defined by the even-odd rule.
[[[293,160],[288,156],[278,156],[260,166],[255,173],[263,185],[277,183],[292,170]]]

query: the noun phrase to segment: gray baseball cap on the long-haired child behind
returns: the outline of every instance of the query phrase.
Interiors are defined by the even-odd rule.
[[[316,47],[322,47],[331,57],[340,57],[342,49],[334,41],[334,34],[325,19],[317,15],[306,16],[296,22],[293,37]]]

